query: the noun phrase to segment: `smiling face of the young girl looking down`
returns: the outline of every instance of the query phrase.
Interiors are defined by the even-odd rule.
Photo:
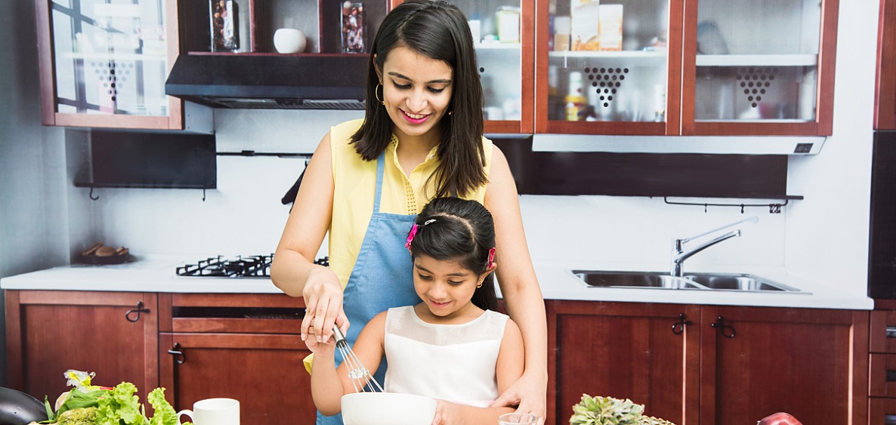
[[[476,275],[457,261],[426,255],[414,259],[414,290],[435,316],[445,319],[478,310],[470,300],[486,276]]]

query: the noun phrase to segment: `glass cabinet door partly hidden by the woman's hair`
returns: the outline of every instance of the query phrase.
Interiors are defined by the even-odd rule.
[[[532,132],[535,2],[450,0],[473,34],[486,132]]]

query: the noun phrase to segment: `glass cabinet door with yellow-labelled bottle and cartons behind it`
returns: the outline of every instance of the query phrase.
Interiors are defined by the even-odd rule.
[[[538,132],[678,131],[680,4],[551,0],[539,7]]]

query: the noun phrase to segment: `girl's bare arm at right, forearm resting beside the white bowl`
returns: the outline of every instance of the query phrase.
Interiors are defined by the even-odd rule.
[[[501,349],[498,351],[498,361],[495,365],[498,393],[503,393],[521,377],[523,355],[520,327],[517,327],[513,320],[507,320],[507,325],[504,327],[504,339],[501,341]],[[498,416],[509,412],[513,412],[513,408],[495,406],[482,408],[438,400],[433,425],[495,425]]]

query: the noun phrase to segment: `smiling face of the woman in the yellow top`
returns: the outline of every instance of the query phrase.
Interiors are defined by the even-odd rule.
[[[384,107],[392,118],[395,134],[399,138],[438,137],[438,124],[448,113],[452,98],[451,66],[418,55],[408,47],[395,47],[386,57],[380,75]]]

